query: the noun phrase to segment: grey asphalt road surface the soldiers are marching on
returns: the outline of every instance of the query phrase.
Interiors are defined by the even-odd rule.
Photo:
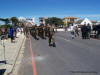
[[[56,48],[49,47],[47,40],[31,40],[36,75],[100,75],[99,40],[71,40],[65,32],[56,33]],[[19,75],[35,75],[29,44],[27,40]]]

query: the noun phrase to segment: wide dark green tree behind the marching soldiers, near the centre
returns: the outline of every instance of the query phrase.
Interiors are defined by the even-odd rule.
[[[48,24],[48,23],[54,24],[56,27],[64,25],[63,20],[61,18],[57,18],[57,17],[51,17],[51,18],[46,19],[46,24]]]

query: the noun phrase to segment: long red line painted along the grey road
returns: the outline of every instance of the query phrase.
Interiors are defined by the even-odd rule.
[[[36,64],[35,64],[35,59],[34,59],[34,52],[33,52],[33,49],[32,49],[32,41],[31,41],[30,36],[29,36],[29,41],[30,41],[30,54],[32,56],[33,75],[37,75]]]

